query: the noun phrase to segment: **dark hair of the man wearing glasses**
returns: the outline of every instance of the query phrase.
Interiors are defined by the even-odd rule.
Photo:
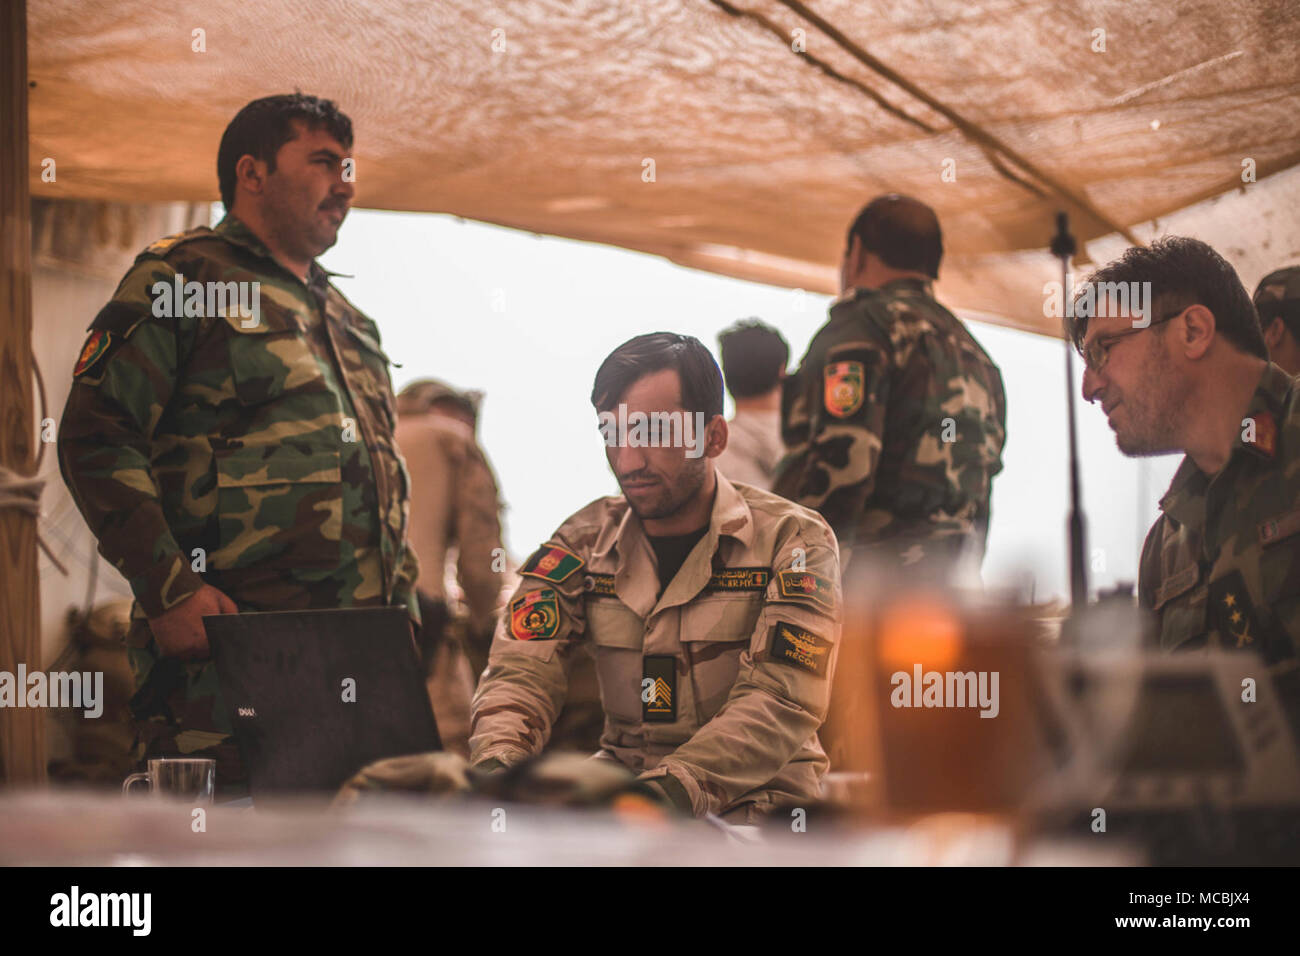
[[[1245,286],[1227,260],[1200,239],[1169,235],[1150,246],[1131,246],[1088,277],[1088,284],[1100,282],[1150,282],[1152,323],[1188,306],[1205,306],[1214,313],[1214,328],[1223,338],[1240,351],[1269,358]],[[1096,306],[1102,297],[1075,297],[1074,316],[1065,320],[1075,349],[1083,349],[1088,334],[1089,300]]]

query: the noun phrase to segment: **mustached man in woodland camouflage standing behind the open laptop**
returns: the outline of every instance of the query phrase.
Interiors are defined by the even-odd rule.
[[[136,757],[243,778],[203,615],[399,605],[408,480],[374,323],[315,258],[352,200],[351,121],[268,96],[217,155],[226,217],[144,250],[90,326],[58,458],[135,593]]]

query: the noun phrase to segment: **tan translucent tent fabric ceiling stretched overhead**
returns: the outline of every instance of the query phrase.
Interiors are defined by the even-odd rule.
[[[940,297],[1049,334],[1060,208],[1108,248],[1114,226],[1149,235],[1191,207],[1196,234],[1261,276],[1300,258],[1300,217],[1254,228],[1297,198],[1277,176],[1300,163],[1295,0],[807,5],[1008,153],[781,0],[29,0],[31,187],[216,199],[226,122],[296,87],[352,116],[361,207],[835,291],[853,215],[907,193],[944,225]],[[1245,160],[1258,182],[1243,183]],[[1228,213],[1213,198],[1234,189]]]

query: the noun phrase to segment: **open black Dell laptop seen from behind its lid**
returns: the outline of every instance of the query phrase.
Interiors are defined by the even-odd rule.
[[[330,792],[442,748],[402,607],[205,617],[250,792]]]

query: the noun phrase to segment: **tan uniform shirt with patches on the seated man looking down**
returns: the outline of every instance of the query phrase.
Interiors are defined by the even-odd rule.
[[[838,549],[816,514],[719,475],[707,533],[656,597],[641,522],[599,498],[521,574],[474,695],[472,762],[542,749],[586,644],[601,756],[697,816],[749,822],[816,797],[840,637]]]

